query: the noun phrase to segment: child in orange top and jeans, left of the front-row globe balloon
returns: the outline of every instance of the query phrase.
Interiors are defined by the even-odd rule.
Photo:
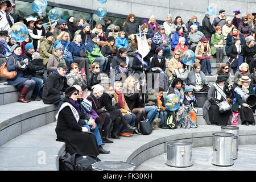
[[[166,106],[164,105],[164,98],[163,98],[163,91],[164,89],[162,87],[159,87],[158,97],[156,98],[157,104],[158,104],[158,112],[160,115],[160,128],[161,129],[168,129],[167,126],[167,117],[168,113],[166,110]]]

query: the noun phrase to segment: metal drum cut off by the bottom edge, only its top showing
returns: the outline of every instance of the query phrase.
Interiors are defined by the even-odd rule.
[[[132,163],[122,161],[101,161],[92,164],[93,171],[134,171]]]

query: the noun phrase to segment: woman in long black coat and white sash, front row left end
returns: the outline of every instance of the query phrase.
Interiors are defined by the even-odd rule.
[[[79,152],[81,155],[97,156],[99,155],[97,139],[93,133],[83,127],[85,121],[79,111],[77,97],[78,92],[75,87],[65,90],[64,104],[56,114],[57,140],[65,142],[66,151],[71,155]]]

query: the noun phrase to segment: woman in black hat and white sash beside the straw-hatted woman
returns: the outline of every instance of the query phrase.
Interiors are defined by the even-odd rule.
[[[208,100],[203,106],[203,117],[208,125],[228,125],[232,119],[232,111],[220,113],[219,104],[226,101],[232,93],[229,89],[225,89],[224,84],[226,77],[220,75],[217,77],[216,83],[213,84],[208,91]]]

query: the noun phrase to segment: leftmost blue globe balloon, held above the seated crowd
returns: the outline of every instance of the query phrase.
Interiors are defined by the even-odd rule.
[[[23,42],[28,35],[27,26],[24,23],[14,23],[13,26],[11,26],[11,37],[16,42]]]

